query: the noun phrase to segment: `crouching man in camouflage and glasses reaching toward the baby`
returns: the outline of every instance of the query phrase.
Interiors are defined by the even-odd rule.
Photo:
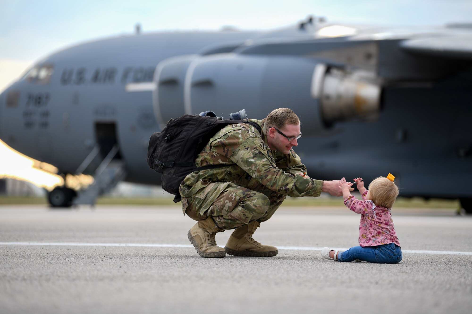
[[[188,238],[202,257],[276,256],[278,249],[252,238],[287,196],[339,196],[338,181],[320,181],[292,147],[302,136],[300,120],[288,108],[272,111],[263,120],[261,134],[250,124],[230,124],[217,132],[195,159],[197,167],[221,165],[188,174],[180,185],[182,210],[198,222]],[[235,229],[225,248],[215,235]]]

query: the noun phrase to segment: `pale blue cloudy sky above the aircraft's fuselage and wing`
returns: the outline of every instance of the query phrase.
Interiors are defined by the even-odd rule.
[[[271,29],[306,16],[366,25],[472,23],[472,0],[0,0],[0,91],[26,66],[81,41],[162,30]]]

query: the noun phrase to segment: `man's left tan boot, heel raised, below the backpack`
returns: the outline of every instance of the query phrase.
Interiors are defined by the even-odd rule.
[[[213,219],[208,217],[195,223],[188,231],[188,240],[202,257],[225,257],[225,249],[216,246],[215,240],[215,235],[221,231],[225,230],[219,229]]]

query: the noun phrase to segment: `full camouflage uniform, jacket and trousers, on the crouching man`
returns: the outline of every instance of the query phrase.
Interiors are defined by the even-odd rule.
[[[231,124],[210,139],[197,167],[224,165],[188,174],[180,185],[182,211],[194,220],[213,217],[221,229],[268,220],[288,196],[320,196],[323,182],[308,176],[293,149],[285,155],[267,145],[264,120]]]

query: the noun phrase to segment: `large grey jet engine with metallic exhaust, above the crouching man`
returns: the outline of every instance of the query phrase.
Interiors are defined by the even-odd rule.
[[[228,118],[246,109],[249,118],[261,119],[289,107],[300,116],[303,133],[318,134],[336,121],[379,112],[379,86],[312,58],[182,56],[160,62],[154,82],[154,111],[161,126],[170,118],[206,110]]]

